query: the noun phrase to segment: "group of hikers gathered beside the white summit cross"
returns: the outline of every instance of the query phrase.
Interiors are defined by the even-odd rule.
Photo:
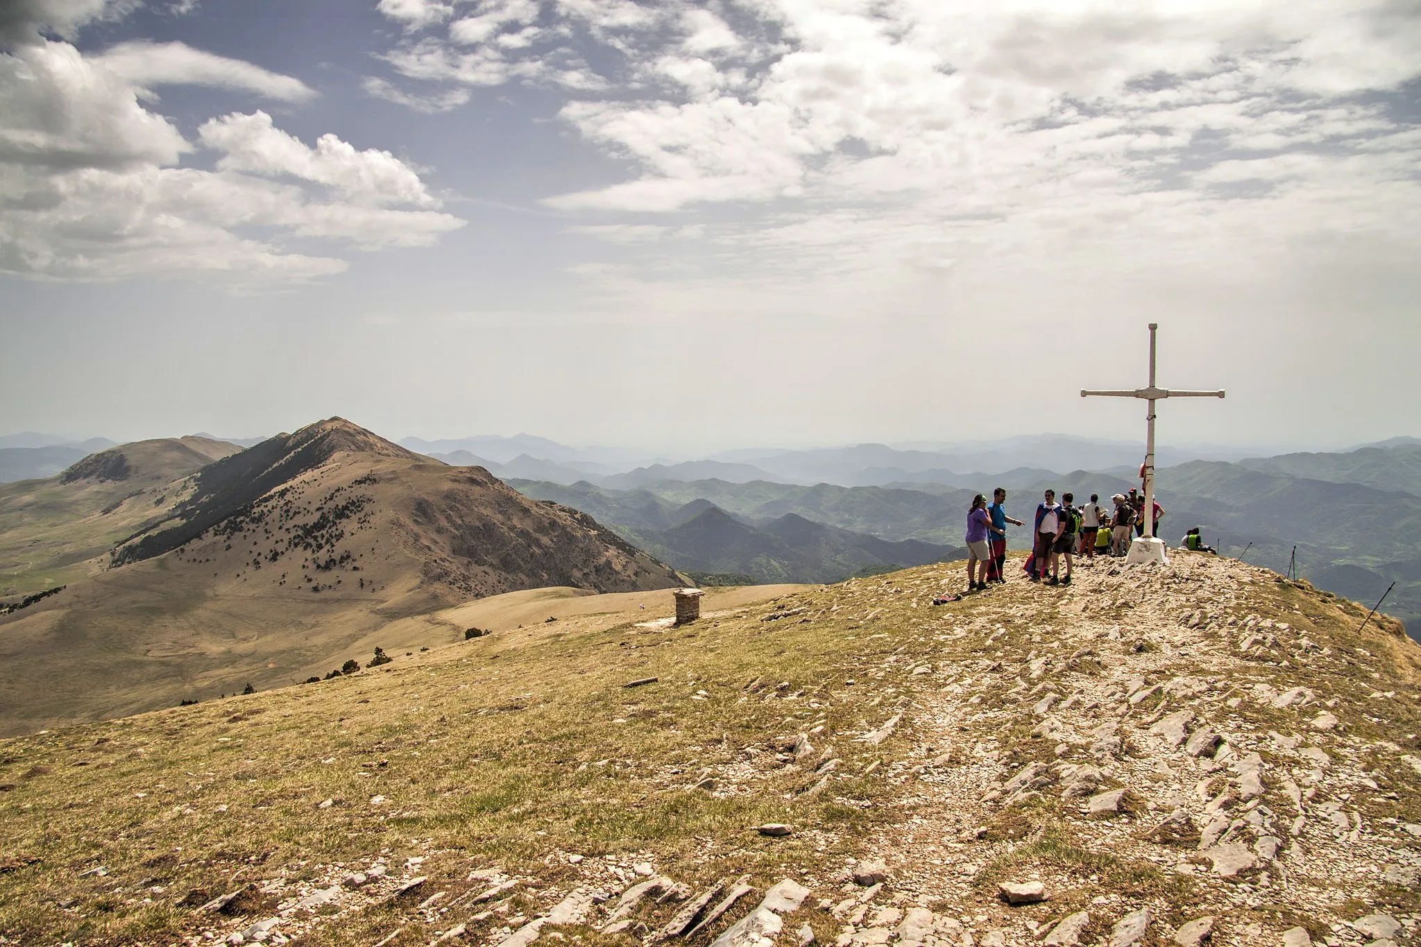
[[[1098,494],[1090,494],[1090,503],[1076,505],[1074,494],[1047,490],[1036,507],[1032,524],[1032,554],[1026,558],[1023,571],[1032,582],[1047,585],[1070,585],[1074,568],[1073,557],[1094,559],[1096,555],[1123,557],[1130,552],[1133,537],[1144,535],[1144,494],[1131,488],[1128,494],[1117,493],[1111,510],[1100,504]],[[1151,535],[1160,535],[1160,520],[1164,507],[1152,504]],[[985,589],[989,582],[1006,582],[1006,527],[1026,525],[1006,515],[1006,490],[992,491],[992,503],[980,493],[972,498],[968,510],[968,591]],[[1204,545],[1199,527],[1194,527],[1179,544],[1182,548],[1214,552]],[[1066,572],[1060,565],[1064,559]]]

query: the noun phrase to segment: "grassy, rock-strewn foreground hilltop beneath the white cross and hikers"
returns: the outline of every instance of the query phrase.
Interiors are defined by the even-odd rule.
[[[1421,649],[1208,555],[581,615],[0,743],[24,944],[1412,943]]]

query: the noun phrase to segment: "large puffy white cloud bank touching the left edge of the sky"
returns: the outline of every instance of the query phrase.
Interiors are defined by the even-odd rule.
[[[294,80],[186,47],[85,58],[33,40],[0,54],[0,271],[55,280],[202,273],[303,280],[347,268],[297,250],[423,247],[465,221],[436,210],[419,175],[379,149],[334,135],[314,146],[266,112],[199,129],[205,149],[141,101],[144,84],[206,81],[301,98]],[[117,68],[115,68],[117,67]],[[304,88],[304,87],[300,87]]]

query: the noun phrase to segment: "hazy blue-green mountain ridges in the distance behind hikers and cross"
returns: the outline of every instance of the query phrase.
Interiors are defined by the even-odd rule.
[[[1357,601],[1376,602],[1394,581],[1385,611],[1421,630],[1421,551],[1415,542],[1421,535],[1421,496],[1403,488],[1421,490],[1414,480],[1418,453],[1421,446],[1401,443],[1344,454],[1285,454],[1239,463],[1195,460],[1162,467],[1160,503],[1167,514],[1161,532],[1177,545],[1185,530],[1198,525],[1222,552],[1243,554],[1249,562],[1280,572],[1289,569],[1296,555],[1302,576]],[[1341,481],[1346,476],[1370,483]],[[961,547],[965,511],[975,493],[1006,487],[1012,494],[1007,507],[1029,521],[1046,487],[1071,491],[1077,503],[1096,493],[1108,507],[1113,493],[1127,491],[1138,481],[1133,471],[1131,476],[1087,470],[1059,474],[1023,467],[975,474],[968,486],[902,481],[843,487],[718,478],[668,478],[635,490],[614,490],[585,480],[570,486],[523,480],[512,484],[529,496],[585,510],[628,535],[642,535],[648,547],[659,542],[649,531],[668,528],[668,508],[703,501],[760,530],[777,517],[794,514],[890,542],[918,540],[946,548]],[[1027,531],[1010,532],[1010,548],[1027,548]],[[685,544],[662,548],[678,566],[696,552]],[[749,568],[737,571],[753,574]]]

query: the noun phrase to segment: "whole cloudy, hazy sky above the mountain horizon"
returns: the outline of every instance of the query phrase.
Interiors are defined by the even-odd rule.
[[[0,433],[1421,434],[1421,4],[4,0]]]

